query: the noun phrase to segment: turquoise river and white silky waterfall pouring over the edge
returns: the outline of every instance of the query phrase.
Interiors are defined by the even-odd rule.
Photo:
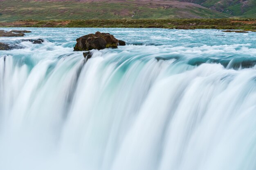
[[[0,38],[0,170],[256,169],[255,33],[27,29]],[[128,45],[85,62],[96,31]]]

